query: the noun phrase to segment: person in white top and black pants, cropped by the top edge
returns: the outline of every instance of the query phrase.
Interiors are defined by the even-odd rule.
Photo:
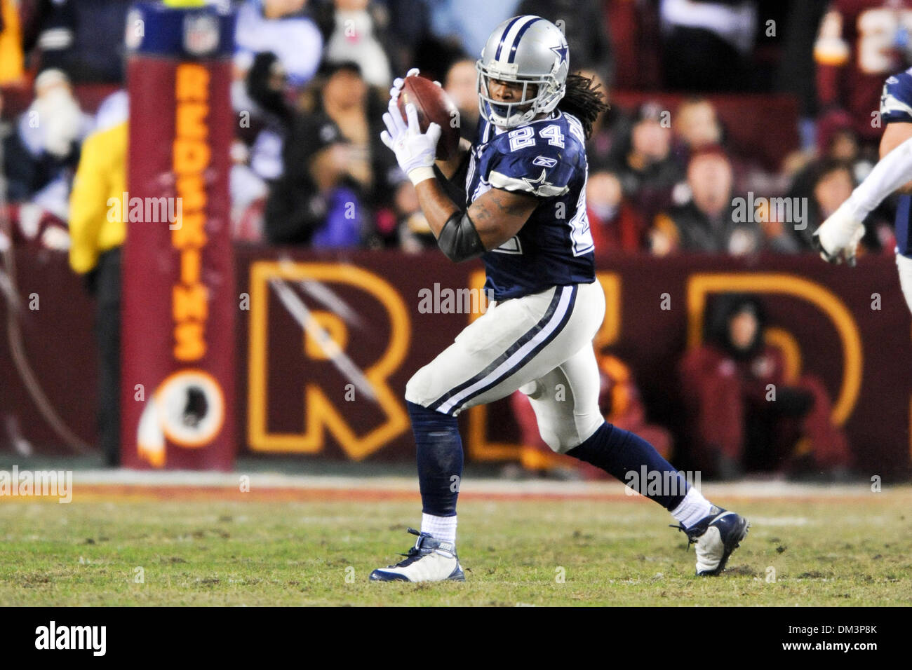
[[[744,88],[757,6],[751,0],[661,0],[665,88],[693,92]]]

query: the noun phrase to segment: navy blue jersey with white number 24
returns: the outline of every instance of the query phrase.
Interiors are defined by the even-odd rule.
[[[552,116],[500,133],[482,119],[472,146],[467,206],[492,188],[540,199],[520,232],[482,256],[485,289],[495,300],[596,281],[586,217],[586,136],[574,116]]]

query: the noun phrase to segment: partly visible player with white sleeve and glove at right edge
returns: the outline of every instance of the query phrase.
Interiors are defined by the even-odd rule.
[[[899,283],[912,311],[912,68],[889,77],[880,98],[880,117],[886,128],[880,139],[880,161],[852,195],[814,232],[824,260],[855,264],[855,249],[865,234],[862,223],[888,195],[904,194],[896,210],[896,266]]]

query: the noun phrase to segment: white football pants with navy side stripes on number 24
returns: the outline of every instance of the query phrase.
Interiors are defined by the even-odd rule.
[[[564,453],[605,420],[592,339],[605,318],[598,282],[554,286],[492,303],[409,379],[409,402],[457,416],[466,407],[526,394],[545,443]]]

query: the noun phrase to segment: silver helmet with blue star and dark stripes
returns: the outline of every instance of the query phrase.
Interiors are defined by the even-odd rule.
[[[475,62],[478,107],[482,117],[500,128],[528,123],[557,107],[566,91],[570,54],[560,28],[541,16],[513,16],[494,28]],[[499,79],[523,84],[514,102],[491,97],[488,83]],[[535,94],[530,95],[531,88]]]

